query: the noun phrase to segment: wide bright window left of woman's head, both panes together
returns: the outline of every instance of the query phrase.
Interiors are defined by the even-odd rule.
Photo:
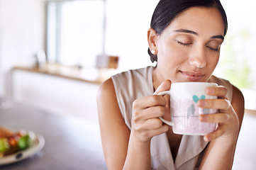
[[[152,64],[147,31],[158,0],[106,0],[105,44],[104,1],[48,2],[47,56],[50,62],[94,67],[96,56],[106,52],[106,55],[120,57],[120,70]]]

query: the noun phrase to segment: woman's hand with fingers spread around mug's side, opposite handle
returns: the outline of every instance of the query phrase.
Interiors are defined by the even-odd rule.
[[[200,115],[200,120],[206,123],[218,123],[214,132],[204,136],[206,142],[216,140],[218,137],[237,137],[240,125],[238,115],[227,98],[227,89],[224,86],[208,87],[206,94],[218,96],[217,99],[200,100],[198,106],[201,108],[217,109],[218,113]]]

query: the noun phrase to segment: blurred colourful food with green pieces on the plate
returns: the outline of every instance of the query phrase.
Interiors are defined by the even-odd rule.
[[[0,158],[27,149],[35,142],[35,133],[0,127]]]

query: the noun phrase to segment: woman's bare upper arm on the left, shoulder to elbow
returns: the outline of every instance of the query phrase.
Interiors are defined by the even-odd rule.
[[[101,142],[108,169],[123,169],[130,130],[119,110],[111,79],[101,84],[97,95],[97,105]]]

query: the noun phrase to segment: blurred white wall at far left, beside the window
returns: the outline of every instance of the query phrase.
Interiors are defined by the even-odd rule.
[[[0,0],[0,96],[9,97],[11,67],[31,65],[45,48],[45,5],[40,0]]]

